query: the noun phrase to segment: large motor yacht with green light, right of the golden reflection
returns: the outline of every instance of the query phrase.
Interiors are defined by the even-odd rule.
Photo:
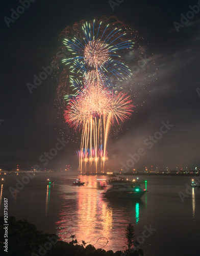
[[[130,199],[138,199],[141,198],[145,193],[146,189],[142,189],[137,186],[129,186],[126,184],[116,184],[109,188],[105,197],[107,198],[130,198]]]

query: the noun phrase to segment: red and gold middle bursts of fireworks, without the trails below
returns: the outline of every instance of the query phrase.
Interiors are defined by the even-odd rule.
[[[65,111],[65,120],[75,129],[83,128],[90,120],[98,118],[124,121],[133,111],[130,96],[126,94],[111,93],[106,89],[90,86],[72,99]]]

